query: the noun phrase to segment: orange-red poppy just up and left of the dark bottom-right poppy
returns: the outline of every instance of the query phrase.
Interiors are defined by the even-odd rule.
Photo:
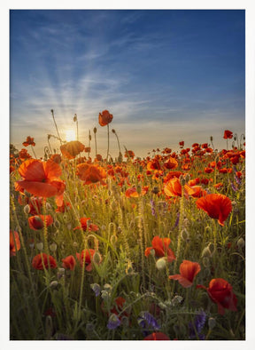
[[[193,284],[194,278],[200,270],[201,267],[197,262],[183,260],[180,265],[180,274],[172,274],[169,276],[169,279],[177,280],[182,284],[182,287],[189,288]]]

